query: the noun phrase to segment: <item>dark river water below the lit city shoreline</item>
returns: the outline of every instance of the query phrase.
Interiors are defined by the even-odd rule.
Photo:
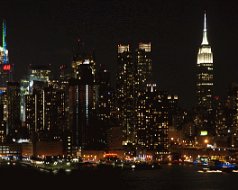
[[[0,168],[0,182],[17,189],[238,190],[238,173],[198,173],[194,166],[156,170],[87,169],[57,175],[23,167]]]

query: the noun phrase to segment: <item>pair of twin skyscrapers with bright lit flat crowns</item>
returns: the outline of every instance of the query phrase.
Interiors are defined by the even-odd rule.
[[[117,104],[123,145],[134,145],[137,141],[138,97],[145,94],[151,70],[151,43],[139,43],[135,54],[132,54],[129,45],[118,45]]]

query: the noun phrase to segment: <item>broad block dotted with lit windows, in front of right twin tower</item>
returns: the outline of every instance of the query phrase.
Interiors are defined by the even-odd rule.
[[[168,94],[156,84],[147,84],[145,93],[138,97],[137,150],[139,154],[152,151],[155,159],[168,154]]]

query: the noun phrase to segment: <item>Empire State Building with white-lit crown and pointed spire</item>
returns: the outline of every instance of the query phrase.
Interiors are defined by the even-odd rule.
[[[197,56],[197,105],[210,110],[213,95],[213,55],[207,39],[207,21],[204,13],[203,38]]]

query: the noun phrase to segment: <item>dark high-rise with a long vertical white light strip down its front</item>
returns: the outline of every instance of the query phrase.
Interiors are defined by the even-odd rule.
[[[72,79],[69,82],[69,126],[75,148],[86,148],[91,140],[93,116],[93,85],[89,81]],[[96,127],[96,126],[94,126]]]

